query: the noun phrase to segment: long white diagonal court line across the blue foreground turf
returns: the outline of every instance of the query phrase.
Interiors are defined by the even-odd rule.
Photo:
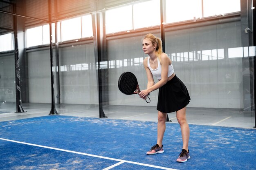
[[[65,149],[59,149],[59,148],[53,148],[53,147],[43,146],[43,145],[29,144],[29,143],[26,143],[26,142],[14,141],[14,140],[10,140],[10,139],[0,138],[0,140],[11,141],[11,142],[15,142],[15,143],[18,143],[18,144],[25,144],[25,145],[30,145],[30,146],[37,146],[37,147],[40,147],[40,148],[59,150],[59,151],[63,151],[63,152],[70,152],[70,153],[75,153],[75,154],[79,154],[79,155],[85,155],[85,156],[89,156],[89,157],[97,157],[97,158],[108,159],[108,160],[112,160],[112,161],[119,161],[119,162],[122,162],[122,163],[125,163],[125,162],[126,163],[132,163],[132,164],[136,164],[136,165],[148,166],[148,167],[158,168],[158,169],[162,169],[162,170],[177,170],[177,169],[166,168],[166,167],[162,167],[162,166],[149,165],[149,164],[146,164],[146,163],[139,163],[139,162],[133,162],[133,161],[126,161],[126,160],[122,160],[122,159],[103,157],[103,156],[99,156],[99,155],[92,155],[92,154],[88,154],[88,153],[76,152],[76,151],[72,151],[72,150],[65,150]]]

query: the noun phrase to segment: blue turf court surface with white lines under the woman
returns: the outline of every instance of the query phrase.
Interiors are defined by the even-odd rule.
[[[0,170],[255,170],[256,130],[190,125],[191,159],[178,163],[179,124],[51,115],[0,122]]]

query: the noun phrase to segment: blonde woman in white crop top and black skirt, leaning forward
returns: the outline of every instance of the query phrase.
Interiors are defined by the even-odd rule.
[[[159,89],[157,144],[147,152],[148,155],[163,153],[163,137],[166,128],[167,113],[176,112],[177,121],[182,132],[183,148],[178,162],[186,162],[189,155],[189,124],[186,121],[186,105],[189,104],[189,93],[183,82],[175,75],[171,59],[162,52],[162,40],[153,34],[147,34],[142,42],[143,51],[148,54],[143,61],[148,77],[147,89],[139,93],[146,99],[150,92]],[[154,82],[153,75],[159,80]]]

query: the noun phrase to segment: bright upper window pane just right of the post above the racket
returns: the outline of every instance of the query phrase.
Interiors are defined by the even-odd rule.
[[[132,6],[106,11],[106,33],[132,29]]]

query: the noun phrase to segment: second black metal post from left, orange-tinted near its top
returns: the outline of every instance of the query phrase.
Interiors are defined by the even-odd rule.
[[[51,90],[52,90],[52,106],[51,106],[51,111],[49,115],[58,115],[59,113],[57,112],[55,108],[55,100],[54,100],[54,75],[53,75],[53,57],[52,57],[52,1],[48,0],[48,11],[49,11],[49,28],[50,28],[50,62],[51,62]]]

